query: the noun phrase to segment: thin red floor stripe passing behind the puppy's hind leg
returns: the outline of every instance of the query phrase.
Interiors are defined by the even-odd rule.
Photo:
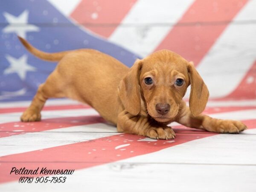
[[[52,105],[44,106],[44,111],[54,111],[54,110],[66,110],[66,109],[88,109],[91,108],[89,105]],[[23,112],[26,110],[26,107],[19,108],[0,108],[0,113],[15,113]]]

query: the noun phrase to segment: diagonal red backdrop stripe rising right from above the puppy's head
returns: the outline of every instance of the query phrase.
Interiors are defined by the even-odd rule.
[[[247,0],[195,0],[156,50],[172,50],[197,65],[229,24],[225,21],[231,21],[245,3]]]

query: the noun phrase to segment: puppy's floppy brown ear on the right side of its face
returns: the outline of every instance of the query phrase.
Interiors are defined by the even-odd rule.
[[[193,62],[188,64],[191,92],[189,96],[189,109],[193,116],[198,116],[205,109],[208,101],[209,91],[203,79],[198,74]]]

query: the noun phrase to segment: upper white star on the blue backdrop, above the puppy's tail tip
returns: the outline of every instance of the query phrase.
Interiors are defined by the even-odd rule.
[[[39,27],[28,23],[29,11],[25,10],[18,17],[7,12],[3,13],[4,17],[10,23],[3,29],[5,33],[16,33],[20,37],[26,38],[26,32],[39,31]]]

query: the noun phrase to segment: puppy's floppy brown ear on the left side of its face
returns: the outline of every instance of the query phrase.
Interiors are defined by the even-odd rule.
[[[125,109],[132,115],[140,113],[139,74],[142,63],[137,59],[119,84],[119,96]]]

